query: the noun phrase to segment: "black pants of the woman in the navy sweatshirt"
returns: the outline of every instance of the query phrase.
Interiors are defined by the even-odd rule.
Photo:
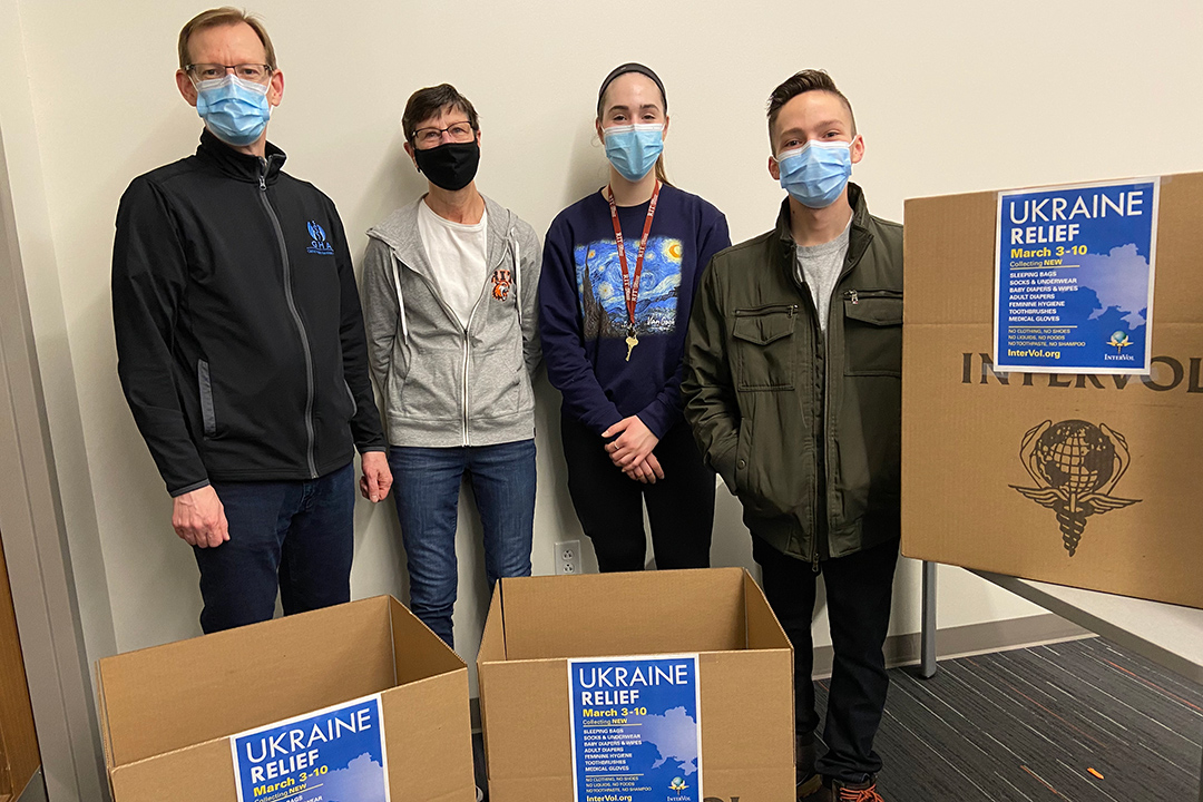
[[[664,469],[664,479],[654,485],[623,475],[610,462],[606,441],[580,422],[562,416],[561,432],[568,492],[603,572],[644,570],[645,499],[656,566],[710,568],[715,471],[701,462],[683,421],[669,429],[652,451]]]

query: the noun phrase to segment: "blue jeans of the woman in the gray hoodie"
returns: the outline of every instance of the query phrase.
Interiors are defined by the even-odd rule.
[[[409,568],[409,608],[455,648],[455,533],[463,475],[472,480],[485,530],[490,592],[502,577],[531,576],[534,440],[454,448],[390,446],[389,468]]]

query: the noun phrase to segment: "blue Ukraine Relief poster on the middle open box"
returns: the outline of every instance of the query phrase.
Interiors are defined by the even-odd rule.
[[[574,802],[700,802],[698,655],[568,661]]]

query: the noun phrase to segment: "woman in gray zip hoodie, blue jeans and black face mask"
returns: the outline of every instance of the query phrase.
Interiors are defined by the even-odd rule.
[[[540,248],[529,225],[476,190],[480,124],[467,97],[450,84],[420,89],[402,127],[428,191],[368,231],[363,313],[410,608],[454,648],[464,474],[490,588],[531,574]]]

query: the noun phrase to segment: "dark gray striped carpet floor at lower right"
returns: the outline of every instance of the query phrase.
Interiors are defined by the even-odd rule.
[[[887,802],[1196,802],[1203,687],[1102,638],[890,672]],[[819,713],[826,682],[816,683]]]

